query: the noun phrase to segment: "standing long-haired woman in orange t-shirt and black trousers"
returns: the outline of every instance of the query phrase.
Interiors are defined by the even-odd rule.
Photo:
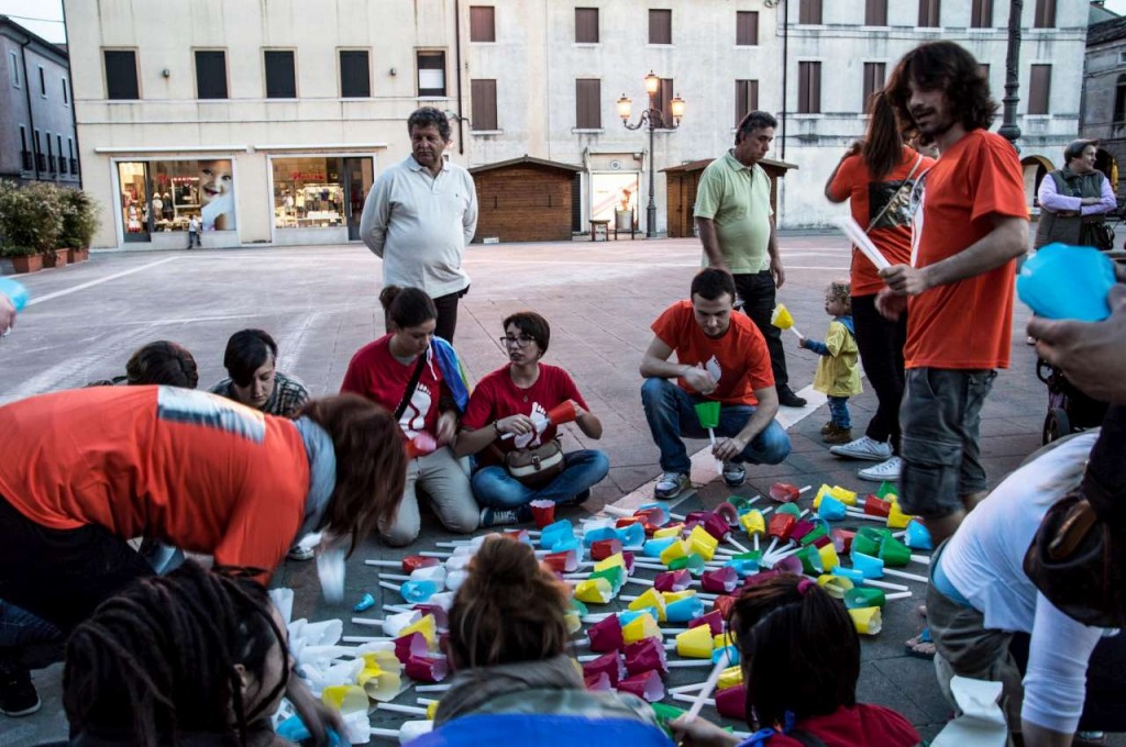
[[[849,201],[852,217],[892,264],[911,263],[911,194],[935,160],[903,144],[895,112],[883,91],[872,98],[868,132],[854,143],[825,182],[825,197]],[[900,400],[903,399],[903,344],[908,316],[891,322],[876,310],[876,294],[884,288],[876,267],[852,250],[852,324],[864,371],[879,406],[865,434],[829,451],[848,459],[879,464],[857,477],[881,483],[900,477]]]

